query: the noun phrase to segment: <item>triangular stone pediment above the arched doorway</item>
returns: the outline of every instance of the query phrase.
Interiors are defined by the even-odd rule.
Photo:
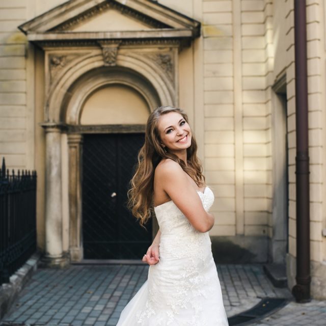
[[[35,42],[118,36],[193,39],[200,34],[200,23],[151,0],[70,0],[19,29]]]

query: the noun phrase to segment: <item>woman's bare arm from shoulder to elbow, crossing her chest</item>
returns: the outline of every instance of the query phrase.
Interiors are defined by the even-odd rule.
[[[207,232],[214,225],[214,216],[203,207],[192,181],[173,160],[166,160],[155,170],[156,182],[199,232]]]

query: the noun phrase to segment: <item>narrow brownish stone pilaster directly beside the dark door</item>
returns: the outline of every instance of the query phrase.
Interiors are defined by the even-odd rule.
[[[69,146],[69,252],[72,261],[83,259],[81,134],[68,134]]]

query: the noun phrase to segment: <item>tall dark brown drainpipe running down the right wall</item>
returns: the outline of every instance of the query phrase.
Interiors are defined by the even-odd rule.
[[[310,301],[310,211],[306,0],[294,0],[296,135],[296,302]]]

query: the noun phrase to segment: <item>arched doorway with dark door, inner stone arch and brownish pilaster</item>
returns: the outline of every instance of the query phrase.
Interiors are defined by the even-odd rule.
[[[151,110],[161,100],[151,83],[125,67],[80,76],[63,100],[69,148],[70,257],[140,259],[152,222],[140,227],[127,190]]]

